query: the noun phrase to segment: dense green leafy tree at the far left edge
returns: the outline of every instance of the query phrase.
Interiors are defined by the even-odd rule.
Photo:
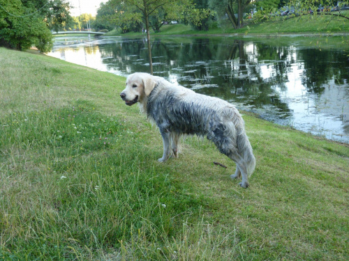
[[[0,45],[50,52],[50,26],[68,22],[68,8],[65,0],[0,0]]]

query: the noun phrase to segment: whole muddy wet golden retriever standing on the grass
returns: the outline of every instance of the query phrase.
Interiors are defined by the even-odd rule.
[[[230,177],[242,176],[240,186],[248,187],[255,157],[244,120],[234,105],[142,72],[127,77],[126,88],[120,96],[129,106],[139,102],[140,110],[158,126],[163,137],[163,157],[158,161],[178,156],[182,134],[207,136],[221,153],[237,164],[235,174]]]

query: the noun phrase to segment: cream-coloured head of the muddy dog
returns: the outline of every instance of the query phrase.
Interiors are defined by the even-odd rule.
[[[120,97],[126,105],[131,106],[137,102],[142,102],[144,97],[149,96],[155,85],[156,78],[153,75],[135,72],[128,75],[126,88],[120,93]]]

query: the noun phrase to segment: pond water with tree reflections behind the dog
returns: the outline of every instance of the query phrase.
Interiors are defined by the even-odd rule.
[[[349,142],[348,49],[302,47],[292,39],[276,45],[233,38],[161,38],[152,42],[152,52],[154,74],[169,81],[221,97],[267,120]],[[50,55],[124,76],[149,72],[144,38],[58,44]]]

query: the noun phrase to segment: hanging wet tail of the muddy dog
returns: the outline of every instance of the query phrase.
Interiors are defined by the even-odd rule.
[[[255,156],[248,136],[245,133],[244,126],[237,129],[237,152],[242,156],[247,168],[248,176],[251,176],[255,170]]]

